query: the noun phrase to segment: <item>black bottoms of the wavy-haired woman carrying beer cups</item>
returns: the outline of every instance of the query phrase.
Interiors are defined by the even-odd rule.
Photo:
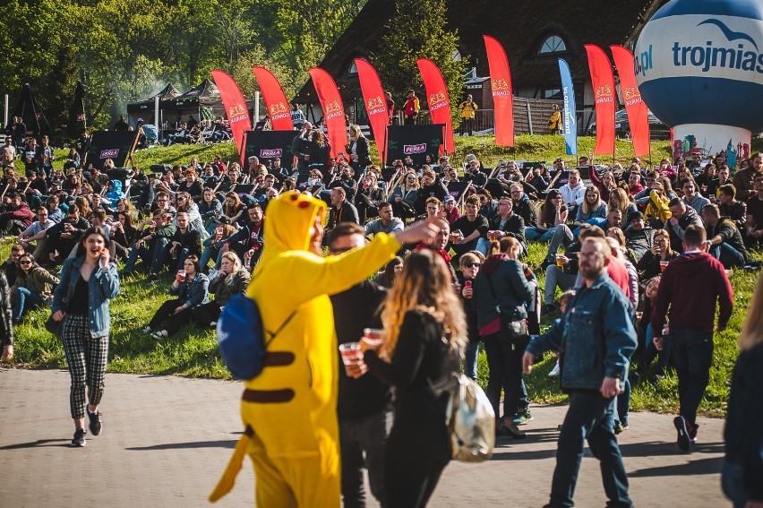
[[[413,417],[413,415],[409,415]],[[384,487],[389,506],[426,506],[450,461],[445,418],[395,419],[387,440]]]

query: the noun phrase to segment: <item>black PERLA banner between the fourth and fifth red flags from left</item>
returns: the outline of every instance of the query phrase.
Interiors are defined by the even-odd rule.
[[[410,157],[420,166],[425,163],[427,153],[437,160],[444,139],[445,124],[390,125],[387,127],[387,164]]]

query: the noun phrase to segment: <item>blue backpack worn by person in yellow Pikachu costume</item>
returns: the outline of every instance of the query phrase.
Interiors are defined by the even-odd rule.
[[[259,375],[265,366],[268,345],[296,314],[292,312],[275,332],[262,325],[260,307],[252,298],[236,295],[223,309],[218,320],[218,346],[227,370],[236,379]],[[266,336],[270,336],[267,339]]]

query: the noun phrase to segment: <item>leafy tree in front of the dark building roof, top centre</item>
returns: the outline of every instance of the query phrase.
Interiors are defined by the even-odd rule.
[[[458,122],[455,106],[464,88],[467,62],[453,59],[459,49],[459,32],[446,30],[445,0],[396,0],[395,4],[396,13],[381,37],[382,50],[372,56],[384,90],[402,98],[406,90],[421,89],[416,59],[429,58],[442,72],[454,122]]]

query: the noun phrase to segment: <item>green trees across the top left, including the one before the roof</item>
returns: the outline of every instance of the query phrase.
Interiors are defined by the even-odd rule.
[[[113,125],[128,103],[167,82],[189,90],[210,70],[234,76],[245,97],[257,90],[253,65],[279,78],[292,97],[366,0],[8,0],[0,4],[0,68],[13,101],[29,82],[56,134],[77,81],[89,124]],[[400,97],[420,85],[416,57],[441,66],[451,99],[466,63],[450,56],[444,0],[397,0],[384,52],[371,55],[381,82]]]

